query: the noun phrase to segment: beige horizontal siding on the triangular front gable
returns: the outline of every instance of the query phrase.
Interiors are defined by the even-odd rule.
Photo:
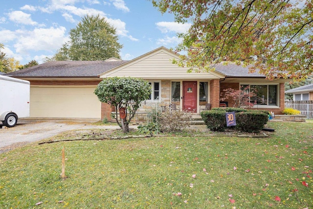
[[[187,73],[187,68],[172,64],[173,58],[178,59],[166,50],[140,57],[133,62],[115,70],[102,74],[100,77],[140,77],[144,79],[220,79],[224,76],[217,72],[192,72]]]

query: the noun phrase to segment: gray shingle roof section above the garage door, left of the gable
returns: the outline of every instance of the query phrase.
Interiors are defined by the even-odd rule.
[[[13,77],[98,77],[128,61],[53,61],[7,73]]]

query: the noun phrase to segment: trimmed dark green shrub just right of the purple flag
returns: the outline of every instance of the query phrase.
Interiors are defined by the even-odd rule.
[[[236,129],[242,132],[259,132],[268,122],[268,114],[262,111],[236,113]]]

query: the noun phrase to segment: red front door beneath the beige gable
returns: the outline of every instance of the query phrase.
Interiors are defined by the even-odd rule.
[[[197,112],[197,81],[183,81],[182,110]]]

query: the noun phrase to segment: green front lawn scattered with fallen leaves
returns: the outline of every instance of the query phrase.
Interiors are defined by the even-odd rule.
[[[29,144],[0,154],[0,208],[313,208],[313,120],[268,127],[268,138]]]

